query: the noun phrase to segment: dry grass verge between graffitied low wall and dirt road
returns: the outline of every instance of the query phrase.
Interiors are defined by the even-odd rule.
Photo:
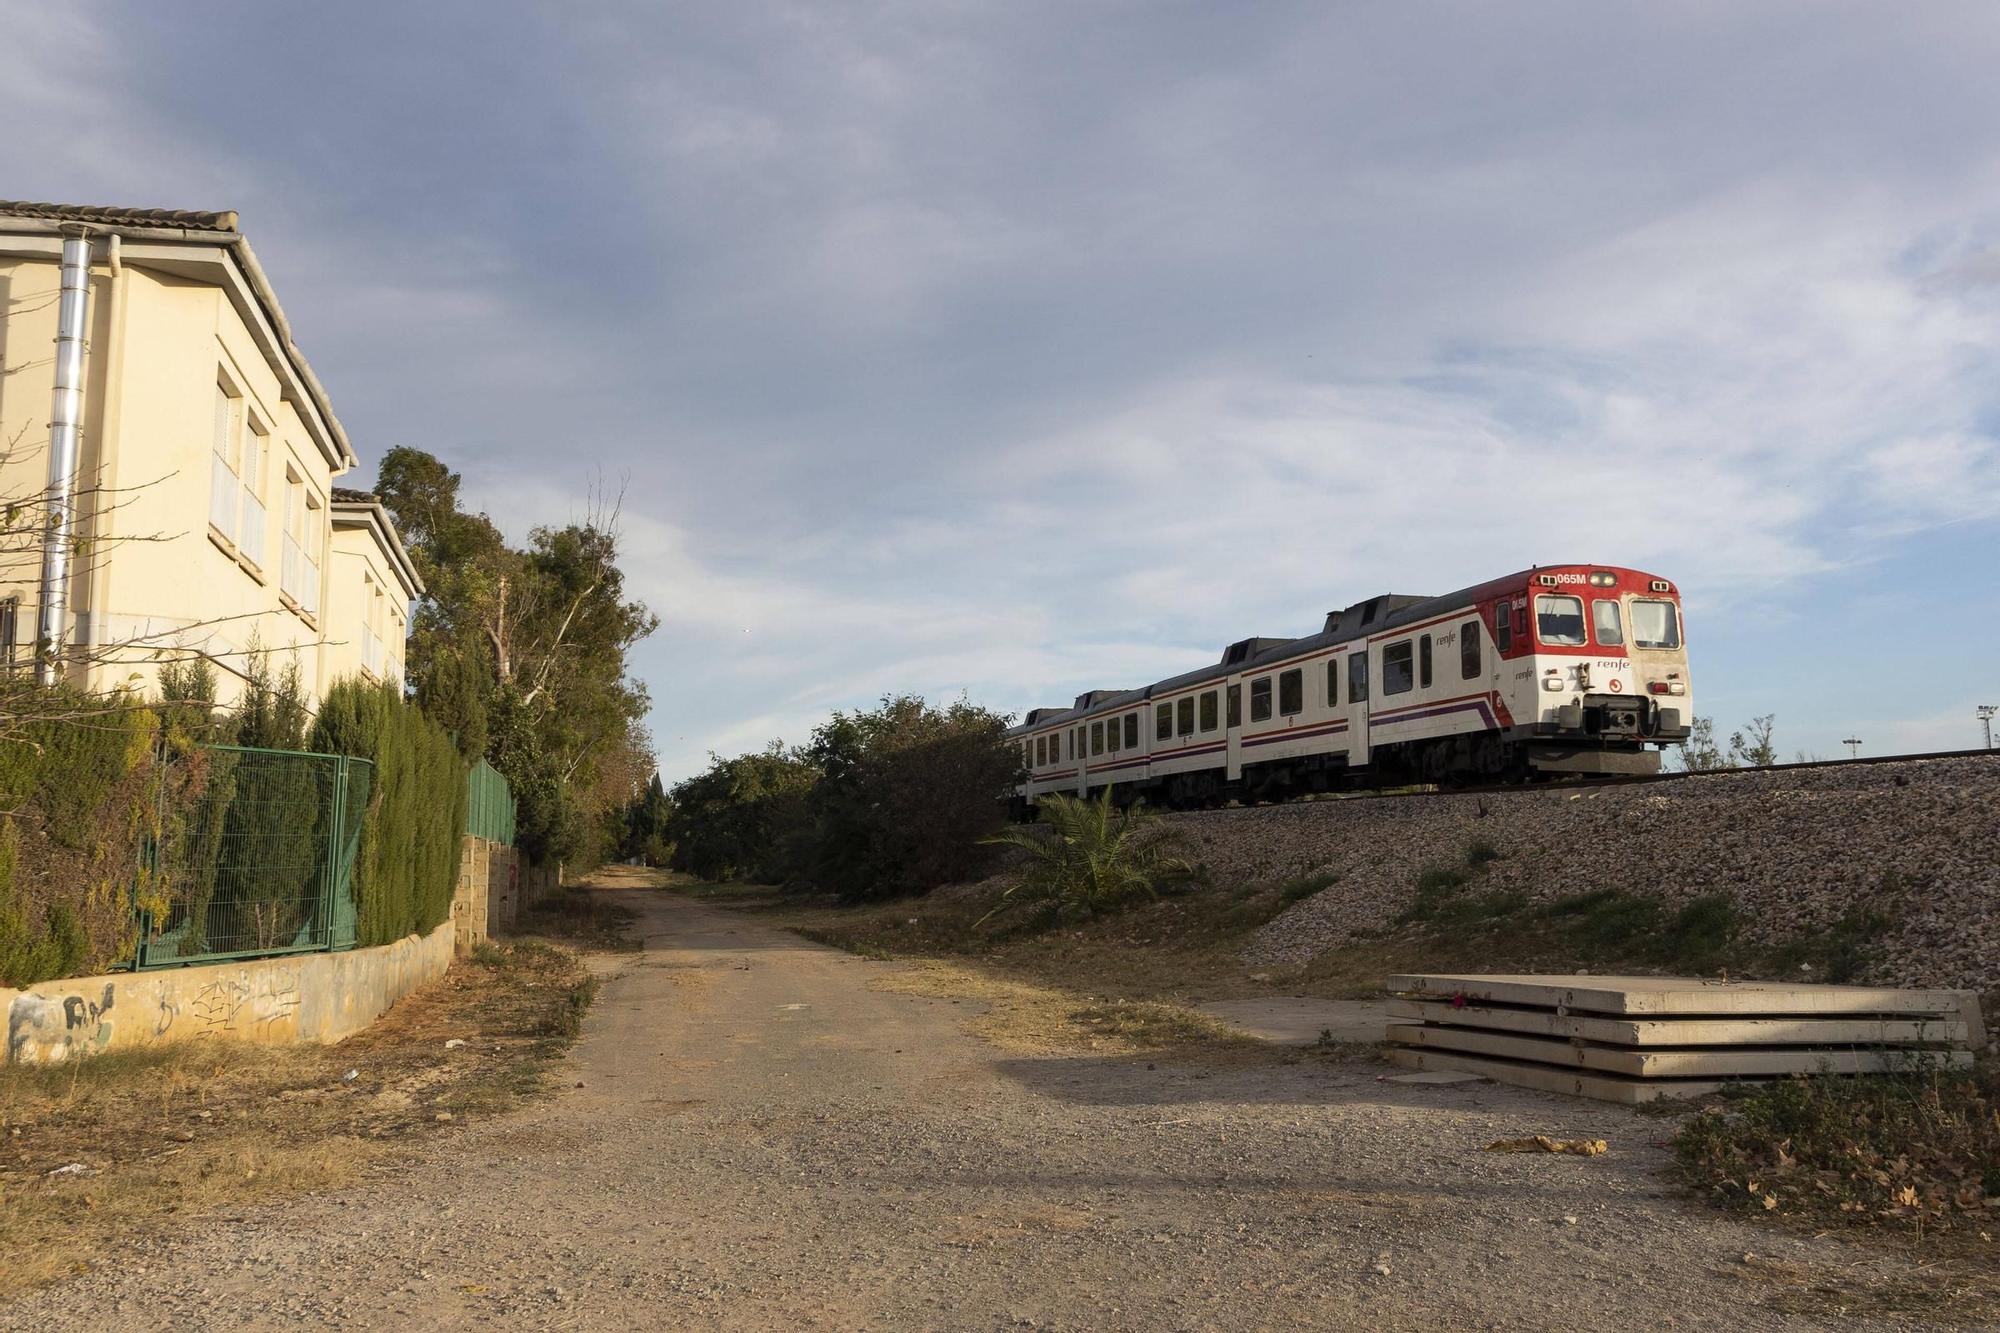
[[[514,1105],[592,991],[570,951],[488,947],[336,1047],[194,1041],[0,1069],[0,1299],[120,1239],[334,1189]],[[84,1173],[50,1175],[70,1163]]]

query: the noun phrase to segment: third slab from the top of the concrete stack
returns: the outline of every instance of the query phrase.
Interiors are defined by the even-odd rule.
[[[1462,1027],[1390,1025],[1398,1047],[1490,1055],[1532,1061],[1556,1071],[1588,1069],[1632,1079],[1740,1079],[1818,1073],[1890,1073],[1910,1067],[1970,1067],[1970,1051],[1862,1051],[1816,1047],[1706,1047],[1686,1051],[1630,1051],[1552,1037],[1510,1037]]]

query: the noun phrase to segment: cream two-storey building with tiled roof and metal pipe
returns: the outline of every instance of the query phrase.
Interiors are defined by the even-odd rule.
[[[336,492],[354,448],[234,212],[0,202],[0,506],[32,514],[0,526],[0,660],[108,691],[200,652],[224,699],[254,648],[314,699],[400,677],[422,584]]]

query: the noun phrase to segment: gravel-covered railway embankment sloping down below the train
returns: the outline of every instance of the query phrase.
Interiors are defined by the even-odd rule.
[[[2000,755],[1172,823],[1216,883],[1326,883],[1250,939],[1252,963],[1306,965],[1406,923],[1426,873],[1454,875],[1470,853],[1490,903],[1720,903],[1744,943],[1778,957],[1788,941],[1842,941],[1852,977],[1836,979],[2000,991]]]

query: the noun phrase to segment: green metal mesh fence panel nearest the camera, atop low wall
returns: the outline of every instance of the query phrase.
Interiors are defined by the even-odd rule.
[[[352,949],[374,765],[212,745],[174,767],[194,799],[162,803],[134,889],[136,965]]]

